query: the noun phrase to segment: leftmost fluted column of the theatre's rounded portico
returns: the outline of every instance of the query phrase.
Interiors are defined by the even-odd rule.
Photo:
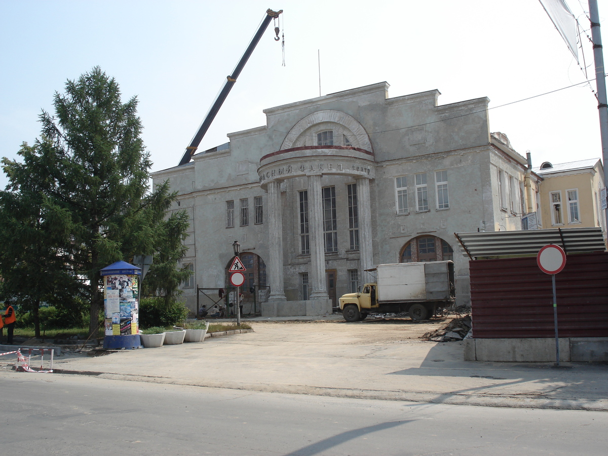
[[[268,240],[270,258],[268,275],[270,285],[269,301],[286,301],[283,291],[283,216],[281,211],[280,182],[268,183]]]

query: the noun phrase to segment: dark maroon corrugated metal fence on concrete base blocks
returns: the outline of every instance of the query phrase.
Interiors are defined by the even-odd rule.
[[[551,276],[536,257],[469,262],[473,337],[554,337]],[[559,337],[608,337],[608,253],[567,255],[556,275]]]

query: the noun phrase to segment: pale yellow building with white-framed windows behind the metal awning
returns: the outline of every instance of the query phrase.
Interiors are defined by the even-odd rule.
[[[556,165],[544,162],[534,168],[534,172],[542,177],[539,192],[542,228],[601,227],[606,230],[599,199],[604,187],[600,159]]]

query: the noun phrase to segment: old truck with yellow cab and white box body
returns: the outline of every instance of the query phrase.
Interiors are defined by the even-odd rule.
[[[347,322],[364,320],[370,313],[409,313],[412,320],[426,320],[455,301],[452,261],[378,264],[367,271],[376,271],[375,283],[340,297]]]

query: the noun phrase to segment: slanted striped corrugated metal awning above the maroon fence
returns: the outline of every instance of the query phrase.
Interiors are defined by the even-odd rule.
[[[541,247],[557,244],[566,254],[604,252],[601,228],[554,228],[548,230],[454,233],[469,258],[536,255]]]

